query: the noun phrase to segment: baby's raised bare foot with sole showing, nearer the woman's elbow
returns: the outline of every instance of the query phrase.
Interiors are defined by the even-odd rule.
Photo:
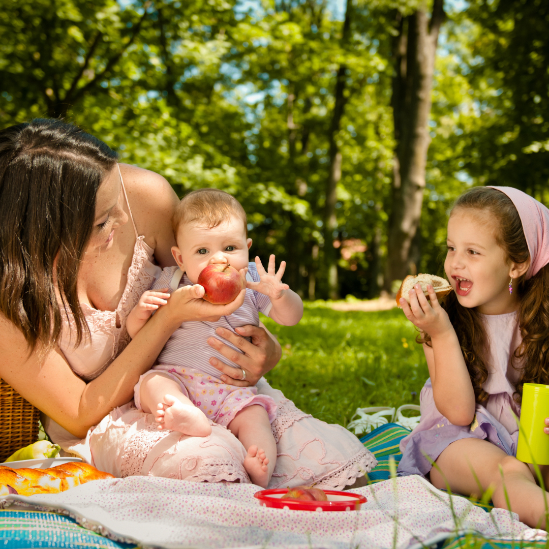
[[[154,419],[160,423],[159,429],[179,431],[189,436],[211,434],[211,425],[204,413],[192,404],[183,404],[172,395],[164,395],[164,402],[159,403]]]

